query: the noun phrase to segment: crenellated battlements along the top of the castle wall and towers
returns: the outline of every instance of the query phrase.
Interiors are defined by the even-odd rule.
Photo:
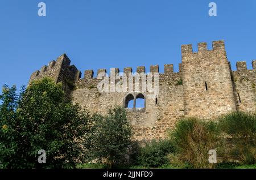
[[[200,56],[205,56],[205,58],[208,58],[210,53],[213,52],[218,52],[218,51],[224,51],[225,52],[225,43],[223,40],[219,41],[213,41],[212,42],[212,50],[209,50],[207,48],[207,43],[206,42],[199,42],[197,44],[198,52],[193,52],[193,47],[192,44],[188,45],[181,45],[181,55],[184,57],[182,59],[183,62],[192,62],[195,61],[195,55],[200,55]],[[193,58],[191,58],[191,55],[193,55]],[[185,58],[187,57],[187,58]],[[202,59],[202,58],[198,58]],[[205,61],[205,59],[203,59]],[[69,73],[69,78],[73,76],[73,80],[78,80],[81,78],[81,72],[77,70],[75,65],[70,65],[71,60],[67,57],[66,54],[60,55],[55,60],[51,61],[48,63],[48,65],[44,65],[40,68],[40,70],[35,71],[32,73],[30,82],[31,80],[42,78],[43,76],[52,76],[55,81],[60,81],[59,80],[59,73],[61,70],[65,70],[65,73]],[[193,63],[193,62],[192,62]],[[200,64],[198,64],[200,65]],[[253,69],[255,70],[256,67],[256,60],[252,61]],[[238,61],[237,62],[237,71],[245,71],[247,70],[246,62],[245,61]],[[110,70],[111,71],[111,70]],[[84,71],[84,77],[82,79],[96,79],[99,74],[105,73],[106,75],[109,74],[110,71],[107,71],[106,68],[100,68],[97,70],[96,77],[94,77],[94,71],[93,70],[85,70]],[[119,68],[114,68],[115,74],[118,74]],[[179,63],[179,72],[181,73],[183,71],[183,64]],[[133,68],[131,67],[125,67],[123,68],[123,73],[126,74],[126,76],[129,75],[129,73],[133,72]],[[146,72],[145,66],[138,66],[136,71],[137,73],[142,73]],[[159,65],[151,65],[150,66],[150,72],[159,72]],[[179,73],[178,72],[178,73]],[[164,72],[159,73],[159,74],[174,74],[174,65],[173,64],[166,64],[164,65]]]

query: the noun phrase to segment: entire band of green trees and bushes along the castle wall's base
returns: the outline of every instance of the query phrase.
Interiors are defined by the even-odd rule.
[[[20,93],[5,85],[0,100],[0,168],[256,168],[255,114],[181,118],[167,139],[138,143],[125,109],[90,115],[49,78]],[[208,162],[210,149],[217,164]]]

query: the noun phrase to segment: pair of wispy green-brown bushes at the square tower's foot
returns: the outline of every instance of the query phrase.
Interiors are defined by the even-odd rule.
[[[168,155],[174,166],[236,168],[256,162],[255,114],[233,112],[215,121],[183,118],[170,136],[177,148]],[[210,149],[217,151],[217,165],[208,162]]]

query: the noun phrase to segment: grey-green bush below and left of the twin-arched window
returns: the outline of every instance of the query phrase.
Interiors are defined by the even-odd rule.
[[[90,155],[93,160],[105,163],[109,168],[125,161],[131,147],[131,126],[126,118],[126,110],[115,107],[108,115],[93,115],[93,131],[90,135],[92,148]]]

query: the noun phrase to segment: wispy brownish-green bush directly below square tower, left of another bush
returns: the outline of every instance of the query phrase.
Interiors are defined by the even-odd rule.
[[[177,154],[169,155],[171,164],[183,164],[191,168],[213,168],[208,162],[210,149],[218,147],[219,130],[215,122],[196,118],[180,119],[170,137]]]

